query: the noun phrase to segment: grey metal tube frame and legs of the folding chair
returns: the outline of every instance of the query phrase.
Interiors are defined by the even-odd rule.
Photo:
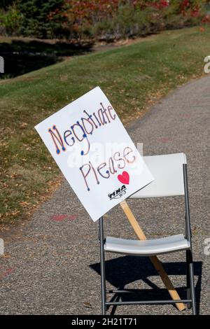
[[[139,300],[126,302],[107,302],[106,300],[106,273],[105,273],[105,256],[104,256],[104,223],[103,217],[99,218],[99,241],[100,241],[100,264],[101,264],[101,287],[102,287],[102,314],[106,314],[107,307],[111,305],[129,305],[129,304],[176,304],[183,302],[187,304],[188,309],[192,308],[193,315],[196,315],[194,269],[193,269],[193,250],[192,250],[192,232],[190,227],[190,207],[188,197],[188,174],[187,165],[183,164],[183,185],[186,207],[186,239],[190,243],[190,249],[186,249],[186,288],[187,298],[184,300]],[[175,251],[174,251],[175,252]],[[141,257],[141,256],[139,256]],[[139,290],[139,289],[136,289]],[[140,290],[141,291],[141,290]],[[129,290],[115,290],[112,293],[128,293]],[[110,293],[110,292],[109,292]]]

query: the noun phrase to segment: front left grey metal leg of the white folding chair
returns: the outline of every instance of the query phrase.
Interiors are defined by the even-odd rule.
[[[106,314],[106,276],[105,276],[105,262],[104,262],[103,218],[99,219],[99,235],[100,235],[100,258],[101,258],[102,315],[105,315]]]

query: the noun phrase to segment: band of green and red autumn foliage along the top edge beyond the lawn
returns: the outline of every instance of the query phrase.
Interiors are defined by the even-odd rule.
[[[207,0],[1,0],[1,29],[38,38],[132,33],[195,24]],[[200,21],[207,22],[203,16]],[[198,20],[197,20],[198,21]],[[133,32],[132,32],[133,31]]]

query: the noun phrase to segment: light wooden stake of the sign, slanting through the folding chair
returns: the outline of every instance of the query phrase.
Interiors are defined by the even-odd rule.
[[[134,217],[134,214],[132,213],[127,202],[125,200],[120,202],[120,206],[123,208],[123,211],[127,216],[128,221],[130,221],[130,224],[132,225],[132,228],[134,229],[134,232],[136,233],[139,240],[146,240],[146,235],[144,234],[143,230],[141,230],[141,227],[137,222],[137,219]],[[150,260],[153,263],[153,266],[157,270],[158,274],[160,275],[160,278],[162,279],[162,282],[165,284],[172,299],[180,300],[181,298],[179,297],[179,294],[174,288],[172,281],[169,279],[169,276],[165,272],[165,269],[162,267],[162,262],[160,262],[157,256],[150,256]],[[186,306],[183,303],[176,303],[176,307],[177,309],[179,309],[179,311],[183,311],[184,309],[186,309]]]

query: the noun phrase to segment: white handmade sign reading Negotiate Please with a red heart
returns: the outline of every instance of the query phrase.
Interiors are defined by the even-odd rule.
[[[35,128],[93,221],[153,181],[99,87]]]

